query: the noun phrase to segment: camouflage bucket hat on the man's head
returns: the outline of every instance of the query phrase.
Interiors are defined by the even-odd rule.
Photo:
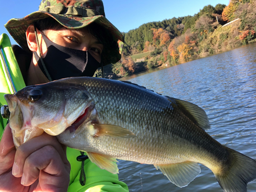
[[[80,29],[92,22],[98,23],[112,35],[116,46],[104,47],[102,53],[103,65],[116,63],[121,58],[123,36],[118,29],[105,17],[101,0],[42,0],[39,11],[35,11],[24,18],[10,19],[5,27],[13,39],[24,50],[29,51],[26,30],[36,20],[52,17],[63,27]]]

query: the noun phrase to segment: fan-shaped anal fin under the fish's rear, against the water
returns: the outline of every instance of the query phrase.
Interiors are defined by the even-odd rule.
[[[187,186],[201,172],[199,164],[191,161],[154,166],[178,187]]]

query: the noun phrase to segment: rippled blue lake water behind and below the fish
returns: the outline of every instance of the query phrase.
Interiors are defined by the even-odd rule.
[[[254,43],[121,80],[200,106],[209,118],[208,134],[256,160],[255,53]],[[170,183],[154,165],[119,160],[118,167],[119,179],[130,191],[223,191],[203,165],[199,176],[183,188]],[[256,191],[256,180],[248,184],[248,191]]]

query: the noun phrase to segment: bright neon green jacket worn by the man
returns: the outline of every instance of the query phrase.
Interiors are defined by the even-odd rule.
[[[14,93],[26,86],[14,56],[9,37],[6,34],[0,36],[0,80],[0,106],[7,104],[4,94]],[[0,116],[0,136],[6,124],[7,120]],[[81,186],[79,182],[81,162],[76,160],[76,157],[79,155],[79,151],[71,148],[67,149],[67,157],[71,164],[68,191],[129,191],[127,185],[118,180],[117,174],[101,170],[89,159],[84,162],[86,185]]]

